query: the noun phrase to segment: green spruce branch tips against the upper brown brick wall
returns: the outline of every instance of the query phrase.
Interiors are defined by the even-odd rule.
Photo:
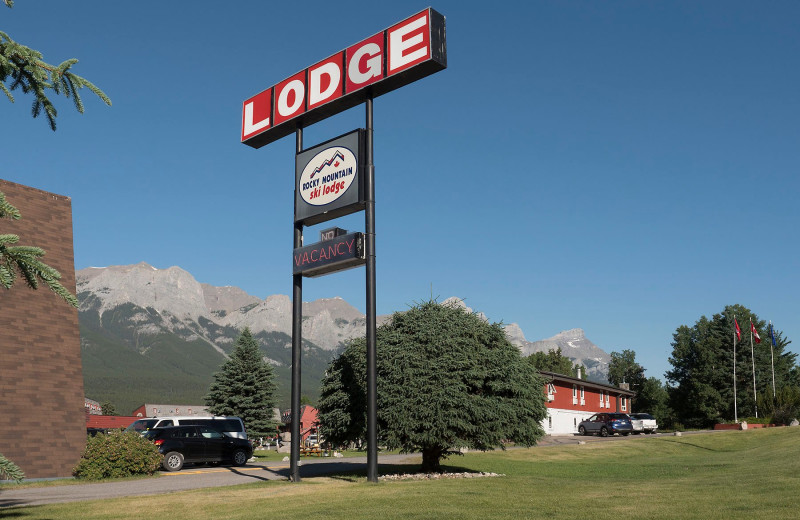
[[[6,196],[0,192],[0,219],[22,218],[19,210],[12,206]],[[40,260],[44,256],[44,249],[34,246],[17,246],[19,235],[0,234],[0,285],[11,289],[17,279],[17,274],[22,275],[28,287],[37,289],[41,279],[54,293],[61,296],[73,307],[78,306],[78,299],[72,295],[61,283],[61,273]]]

